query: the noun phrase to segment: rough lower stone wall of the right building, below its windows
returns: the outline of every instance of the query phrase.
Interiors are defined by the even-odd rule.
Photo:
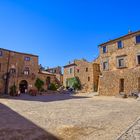
[[[118,71],[105,72],[100,77],[100,95],[117,95],[120,93],[120,79],[124,79],[124,93],[139,91],[140,67]]]

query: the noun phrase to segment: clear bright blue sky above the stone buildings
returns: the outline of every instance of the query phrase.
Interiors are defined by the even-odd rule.
[[[43,66],[98,56],[98,45],[140,29],[139,0],[0,0],[0,48]]]

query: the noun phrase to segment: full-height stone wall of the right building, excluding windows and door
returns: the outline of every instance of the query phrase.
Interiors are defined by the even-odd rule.
[[[140,34],[140,33],[137,33]],[[100,69],[99,79],[100,95],[117,95],[120,93],[120,79],[124,79],[124,93],[130,94],[138,90],[139,65],[137,55],[140,54],[140,44],[136,44],[135,35],[131,34],[119,40],[123,42],[123,48],[117,48],[117,41],[106,44],[107,53],[103,54],[103,46],[100,47]],[[118,68],[117,57],[125,57],[125,67]],[[103,70],[103,62],[108,61],[108,70]]]

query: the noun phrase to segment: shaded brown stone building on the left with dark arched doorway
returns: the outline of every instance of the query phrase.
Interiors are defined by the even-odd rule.
[[[55,82],[55,75],[39,70],[38,56],[0,48],[0,93],[7,93],[16,85],[21,93],[36,89],[37,78],[44,80],[44,89],[48,83]]]

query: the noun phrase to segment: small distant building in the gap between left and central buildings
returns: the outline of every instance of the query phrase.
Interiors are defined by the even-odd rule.
[[[62,74],[62,68],[60,66],[54,68],[47,68],[46,71],[56,75],[57,82],[60,85],[63,85],[63,74]]]

